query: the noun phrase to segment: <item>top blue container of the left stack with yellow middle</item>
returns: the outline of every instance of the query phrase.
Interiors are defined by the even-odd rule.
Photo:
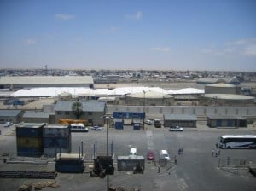
[[[43,137],[43,126],[45,124],[20,123],[16,124],[17,137]]]

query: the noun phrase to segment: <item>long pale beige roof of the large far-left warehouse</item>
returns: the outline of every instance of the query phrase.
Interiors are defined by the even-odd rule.
[[[4,76],[0,84],[93,84],[91,76]]]

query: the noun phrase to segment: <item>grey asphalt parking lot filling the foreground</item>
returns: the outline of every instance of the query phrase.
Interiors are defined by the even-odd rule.
[[[9,153],[15,157],[15,127],[3,128],[0,136],[0,153]],[[146,130],[132,130],[125,126],[124,130],[109,129],[109,144],[113,141],[114,165],[119,155],[128,155],[130,148],[137,148],[137,155],[146,157],[148,150],[153,150],[156,161],[160,150],[166,149],[171,160],[158,169],[157,162],[147,161],[143,174],[132,174],[132,171],[115,171],[109,176],[111,187],[125,186],[141,188],[141,190],[256,190],[256,179],[246,168],[219,168],[220,161],[250,161],[256,163],[256,150],[231,149],[220,150],[220,155],[212,156],[212,148],[218,142],[218,136],[224,134],[255,134],[253,129],[210,129],[201,125],[183,132],[170,132],[165,128],[154,128],[146,125]],[[106,130],[90,130],[88,133],[72,134],[72,153],[84,142],[86,154],[85,171],[83,174],[58,173],[56,182],[60,185],[55,190],[106,190],[107,178],[89,177],[90,161],[94,144],[97,153],[106,154]],[[178,154],[178,148],[183,153]],[[177,165],[174,159],[177,159]],[[42,159],[44,160],[44,159]],[[0,171],[40,171],[55,170],[55,163],[48,159],[48,165],[4,164],[3,156]],[[45,182],[36,179],[0,179],[0,190],[15,190],[24,182]],[[53,190],[53,188],[44,188]]]

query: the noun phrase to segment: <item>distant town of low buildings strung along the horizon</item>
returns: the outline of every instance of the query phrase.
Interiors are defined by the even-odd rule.
[[[92,76],[95,84],[118,82],[178,82],[199,78],[237,78],[240,82],[256,82],[256,72],[174,71],[174,70],[62,70],[0,69],[0,76]]]

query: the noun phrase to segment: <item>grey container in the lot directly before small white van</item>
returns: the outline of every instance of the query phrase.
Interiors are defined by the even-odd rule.
[[[118,156],[118,171],[133,171],[138,164],[145,169],[145,159],[143,156]]]

